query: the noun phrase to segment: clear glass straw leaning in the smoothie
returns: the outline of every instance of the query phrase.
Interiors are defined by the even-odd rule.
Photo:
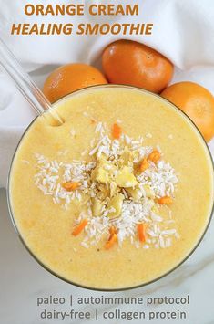
[[[25,99],[31,104],[31,106],[36,110],[38,115],[43,114],[49,109],[52,117],[56,119],[60,124],[63,120],[56,113],[56,111],[51,110],[52,106],[43,92],[38,89],[35,82],[30,78],[30,76],[25,72],[21,65],[16,60],[13,53],[5,45],[5,42],[0,37],[0,66],[5,69],[5,72],[12,78],[15,82],[17,89],[25,96]]]

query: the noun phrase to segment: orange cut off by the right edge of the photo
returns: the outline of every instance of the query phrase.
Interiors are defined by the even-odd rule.
[[[198,126],[204,139],[214,136],[214,98],[209,90],[193,82],[179,82],[165,89],[161,96],[183,110]]]

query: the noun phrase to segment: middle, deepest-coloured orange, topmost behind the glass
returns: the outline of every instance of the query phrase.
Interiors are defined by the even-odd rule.
[[[155,49],[131,40],[118,40],[102,56],[110,83],[136,86],[159,93],[168,86],[174,67]]]

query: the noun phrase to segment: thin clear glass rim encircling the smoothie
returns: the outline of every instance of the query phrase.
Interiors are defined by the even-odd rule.
[[[81,93],[81,92],[87,92],[87,91],[90,91],[91,89],[106,89],[106,88],[120,88],[120,89],[134,89],[134,90],[138,90],[139,92],[143,92],[143,93],[147,93],[148,95],[151,95],[153,97],[156,97],[158,99],[160,99],[160,101],[164,101],[164,102],[167,102],[169,103],[169,106],[172,107],[172,109],[178,111],[178,113],[180,115],[183,115],[186,120],[189,121],[189,123],[192,125],[193,129],[196,130],[196,132],[199,134],[199,138],[200,140],[202,140],[204,146],[205,146],[205,149],[207,150],[208,152],[208,156],[209,156],[209,160],[211,162],[211,165],[212,165],[212,178],[214,180],[214,161],[213,161],[213,158],[212,158],[212,155],[211,155],[211,152],[209,150],[209,146],[208,146],[208,143],[205,141],[205,139],[203,138],[201,132],[199,131],[199,128],[195,125],[195,123],[190,120],[189,116],[182,110],[180,110],[173,102],[169,101],[168,99],[165,99],[163,97],[161,97],[160,95],[158,95],[157,93],[153,93],[151,91],[148,91],[147,89],[142,89],[142,88],[138,88],[138,87],[133,87],[133,86],[127,86],[127,85],[120,85],[120,84],[105,84],[105,85],[97,85],[97,86],[91,86],[91,87],[87,87],[87,88],[84,88],[84,89],[78,89],[76,91],[73,91],[69,94],[67,94],[65,97],[61,98],[61,99],[58,99],[56,100],[56,102],[54,102],[54,106],[57,105],[58,103],[60,103],[61,101],[64,101],[66,100],[66,98],[70,98],[72,96],[75,96],[76,94],[78,93]],[[14,163],[14,160],[15,160],[15,155],[16,155],[16,152],[18,151],[18,148],[23,140],[23,138],[25,137],[25,134],[26,132],[30,129],[31,125],[36,121],[36,119],[38,118],[39,116],[37,116],[34,120],[32,120],[32,122],[27,126],[27,128],[25,129],[24,133],[22,134],[22,137],[21,139],[19,140],[18,144],[16,145],[16,148],[15,148],[15,152],[14,152],[14,155],[13,155],[13,158],[12,158],[12,161],[11,161],[11,164],[10,164],[10,168],[9,168],[9,172],[8,172],[8,176],[7,176],[7,188],[6,188],[6,197],[7,197],[7,204],[8,204],[8,210],[9,210],[9,215],[10,215],[10,218],[11,218],[11,221],[12,221],[12,224],[14,225],[14,228],[15,228],[15,232],[16,234],[18,235],[19,239],[21,240],[22,244],[25,246],[26,250],[29,252],[29,254],[31,256],[34,257],[34,259],[36,260],[36,262],[44,267],[49,273],[51,273],[52,275],[54,275],[55,277],[65,281],[66,283],[70,284],[70,285],[73,285],[73,286],[76,286],[76,287],[81,287],[81,288],[85,288],[85,289],[88,289],[88,290],[92,290],[92,291],[103,291],[103,292],[119,292],[119,291],[126,291],[126,290],[132,290],[132,289],[136,289],[136,288],[140,288],[140,287],[145,287],[145,286],[148,286],[150,284],[153,284],[155,282],[157,282],[158,280],[160,280],[161,278],[163,277],[167,277],[170,273],[172,273],[173,271],[175,271],[178,267],[180,267],[184,262],[186,262],[189,257],[195,252],[195,250],[198,248],[198,246],[200,245],[201,241],[203,240],[204,238],[204,235],[207,233],[208,229],[209,229],[209,225],[210,225],[210,222],[211,222],[211,219],[212,219],[212,215],[214,213],[214,197],[213,197],[213,203],[212,203],[212,207],[211,207],[211,211],[210,211],[210,215],[209,215],[209,219],[208,219],[208,223],[207,225],[205,226],[203,232],[201,233],[200,237],[199,237],[199,241],[197,241],[196,245],[193,246],[193,248],[189,251],[189,254],[187,256],[185,256],[180,262],[178,262],[178,265],[176,265],[175,267],[172,267],[170,268],[166,273],[152,279],[152,280],[149,280],[148,282],[145,282],[145,283],[142,283],[142,284],[138,284],[136,286],[131,286],[131,287],[119,287],[119,288],[98,288],[98,287],[89,287],[89,286],[86,286],[86,285],[81,285],[81,284],[78,284],[74,281],[71,281],[71,280],[68,280],[66,279],[66,277],[63,277],[63,276],[60,276],[59,274],[57,274],[54,270],[52,270],[51,268],[47,267],[30,249],[29,246],[27,246],[27,244],[25,243],[25,239],[22,237],[19,229],[18,229],[18,226],[15,224],[15,217],[14,217],[14,213],[13,213],[13,209],[12,209],[12,204],[11,204],[11,200],[10,200],[10,177],[11,177],[11,172],[12,172],[12,168],[13,168],[13,163]],[[60,126],[58,126],[60,127]],[[214,187],[212,187],[212,191],[214,193]],[[212,193],[212,195],[213,195]]]

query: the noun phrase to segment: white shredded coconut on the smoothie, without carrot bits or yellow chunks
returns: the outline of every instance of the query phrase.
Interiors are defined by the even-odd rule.
[[[87,113],[86,117],[91,118]],[[118,122],[118,120],[117,120]],[[71,135],[75,136],[76,132],[71,130]],[[151,134],[146,135],[151,138]],[[72,202],[77,201],[82,205],[83,213],[79,214],[76,219],[76,225],[86,218],[87,226],[84,228],[85,238],[81,246],[88,248],[96,245],[103,236],[109,234],[109,228],[114,226],[117,228],[118,245],[122,246],[124,240],[129,239],[130,243],[140,247],[138,242],[138,224],[147,225],[146,242],[142,245],[144,249],[168,248],[173,244],[173,240],[179,237],[175,228],[175,220],[172,219],[170,209],[168,209],[168,217],[154,212],[153,208],[155,198],[164,196],[173,197],[178,183],[178,177],[172,166],[161,159],[157,162],[149,162],[148,169],[144,172],[136,174],[138,181],[138,197],[134,199],[127,190],[127,187],[135,189],[128,181],[124,188],[117,188],[122,193],[124,199],[119,217],[109,217],[108,214],[114,214],[116,208],[108,207],[110,201],[109,196],[103,200],[100,209],[100,216],[93,216],[93,199],[99,198],[110,191],[114,195],[115,179],[121,165],[126,163],[127,157],[132,160],[127,161],[127,165],[133,172],[138,163],[153,151],[151,146],[143,146],[143,138],[132,139],[122,134],[119,140],[111,140],[107,135],[107,125],[98,122],[95,128],[95,138],[90,142],[91,151],[89,153],[82,152],[82,156],[88,154],[91,162],[73,160],[72,162],[51,161],[44,155],[36,154],[35,185],[44,194],[50,195],[54,204],[62,204],[67,210]],[[160,148],[157,146],[159,152]],[[60,153],[58,155],[66,155]],[[112,171],[112,180],[110,183],[98,183],[93,179],[93,172],[97,167],[99,159],[105,156],[107,161],[106,171]],[[62,183],[76,182],[80,185],[74,191],[66,191]],[[149,188],[149,194],[146,190]],[[172,227],[174,226],[174,228]]]

